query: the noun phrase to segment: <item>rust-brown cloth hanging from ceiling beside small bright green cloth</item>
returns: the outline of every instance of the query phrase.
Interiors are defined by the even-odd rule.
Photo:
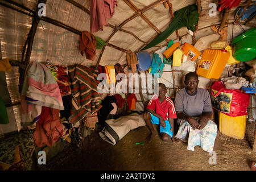
[[[96,56],[96,39],[93,34],[88,31],[82,32],[80,37],[81,55],[86,56],[86,59],[94,60]]]

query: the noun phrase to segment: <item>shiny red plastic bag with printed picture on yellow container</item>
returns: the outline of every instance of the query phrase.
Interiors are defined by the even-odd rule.
[[[231,117],[247,115],[250,104],[250,94],[238,89],[226,89],[222,81],[212,85],[212,106]]]

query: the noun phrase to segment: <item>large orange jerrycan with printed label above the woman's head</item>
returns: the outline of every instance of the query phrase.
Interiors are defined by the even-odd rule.
[[[205,78],[220,78],[230,53],[226,50],[205,49],[196,69],[197,75]]]

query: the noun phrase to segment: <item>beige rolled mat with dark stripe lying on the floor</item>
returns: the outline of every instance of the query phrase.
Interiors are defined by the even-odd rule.
[[[118,119],[108,119],[106,126],[98,133],[100,137],[113,146],[119,142],[130,130],[146,126],[143,114],[129,114]]]

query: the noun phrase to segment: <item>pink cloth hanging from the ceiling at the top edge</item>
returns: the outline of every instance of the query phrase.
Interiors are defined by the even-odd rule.
[[[112,18],[117,0],[90,0],[90,33],[102,31],[108,26],[106,18]]]

